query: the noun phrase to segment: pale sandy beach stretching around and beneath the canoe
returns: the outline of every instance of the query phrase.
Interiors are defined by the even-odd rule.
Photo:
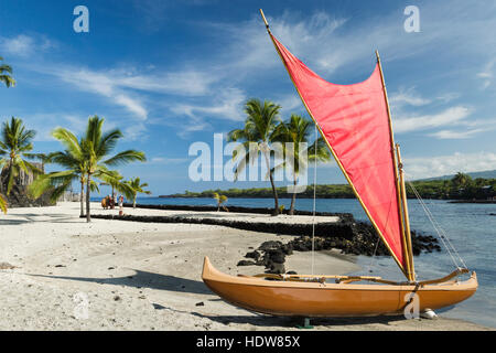
[[[93,208],[95,214],[118,213],[96,203]],[[106,220],[87,224],[78,215],[78,203],[60,203],[11,208],[0,216],[0,330],[295,330],[300,323],[231,307],[201,279],[204,256],[233,275],[262,272],[262,267],[236,264],[262,242],[285,242],[291,236],[194,224]],[[310,271],[310,253],[289,256],[285,266]],[[315,254],[319,272],[357,269],[351,256]],[[319,319],[312,324],[314,330],[486,330],[442,315]]]

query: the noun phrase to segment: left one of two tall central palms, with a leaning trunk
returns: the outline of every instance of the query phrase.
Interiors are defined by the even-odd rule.
[[[273,215],[279,214],[278,192],[273,182],[273,170],[270,168],[270,152],[272,150],[271,143],[276,140],[278,135],[278,122],[280,122],[279,111],[281,106],[265,100],[263,104],[256,98],[249,99],[245,105],[245,113],[247,118],[242,129],[235,129],[228,133],[228,141],[240,141],[245,147],[246,154],[239,161],[235,170],[236,178],[246,165],[258,158],[261,153],[265,158],[267,170],[269,171],[269,180],[272,186],[272,194],[274,200]],[[250,148],[254,146],[256,148]],[[251,145],[251,146],[250,146]],[[233,153],[233,159],[239,158],[237,151]]]

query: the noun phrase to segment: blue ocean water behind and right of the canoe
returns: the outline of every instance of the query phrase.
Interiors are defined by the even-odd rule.
[[[438,224],[444,229],[454,248],[459,252],[471,270],[477,272],[478,289],[468,300],[442,310],[443,317],[464,319],[475,323],[496,328],[496,204],[454,204],[441,200],[425,200]],[[175,205],[216,205],[213,199],[160,199],[139,197],[140,204]],[[317,199],[317,212],[347,212],[356,220],[367,221],[367,216],[354,199]],[[282,199],[285,208],[290,200]],[[410,224],[414,231],[435,236],[434,227],[417,200],[409,200]],[[227,206],[272,207],[272,199],[229,199]],[[313,210],[313,200],[296,200],[296,208]],[[455,269],[450,255],[439,239],[441,253],[422,254],[414,257],[414,265],[420,280],[443,277]],[[402,280],[402,275],[389,256],[358,256],[357,263],[364,272],[388,279]],[[441,311],[439,311],[441,312]]]

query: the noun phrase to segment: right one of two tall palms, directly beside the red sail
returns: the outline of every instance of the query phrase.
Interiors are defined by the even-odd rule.
[[[276,168],[282,168],[285,163],[290,164],[291,172],[293,174],[294,189],[298,184],[298,178],[302,170],[308,168],[310,161],[327,162],[331,160],[331,151],[328,150],[324,139],[322,137],[310,143],[310,136],[312,135],[313,121],[305,119],[299,115],[292,114],[288,121],[284,121],[281,126],[282,132],[278,136],[281,142],[290,142],[291,145],[283,145],[285,153],[292,153],[287,156],[284,162]],[[289,150],[289,146],[292,146],[292,150]],[[306,158],[304,158],[306,154]],[[294,204],[296,201],[296,192],[293,190],[291,197],[291,206],[289,214],[294,214]]]

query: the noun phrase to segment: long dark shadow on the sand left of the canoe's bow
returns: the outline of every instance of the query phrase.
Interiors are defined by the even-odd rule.
[[[54,276],[54,275],[32,275],[33,277],[44,277],[52,279],[75,280],[85,282],[95,282],[100,285],[127,286],[134,288],[150,288],[158,290],[169,290],[176,292],[187,292],[194,295],[212,295],[212,291],[198,280],[186,279],[175,276],[161,275],[154,272],[132,269],[136,274],[125,277],[110,278],[91,278],[91,277],[69,277],[69,276]]]

